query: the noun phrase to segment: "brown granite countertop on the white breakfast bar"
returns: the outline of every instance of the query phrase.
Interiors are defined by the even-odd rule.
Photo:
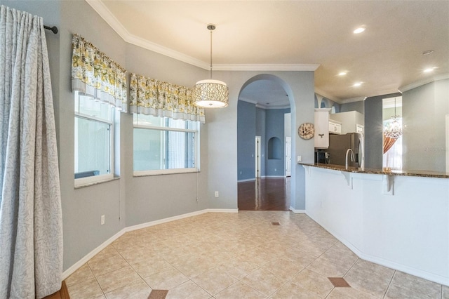
[[[349,173],[371,173],[371,174],[381,174],[381,175],[405,175],[405,176],[420,176],[423,178],[449,178],[449,173],[438,172],[438,171],[396,171],[396,170],[385,170],[385,169],[373,169],[373,168],[359,168],[359,167],[348,167],[346,169],[342,165],[335,164],[321,164],[321,163],[298,163],[304,166],[313,166],[319,168],[332,169],[334,171],[345,171]]]

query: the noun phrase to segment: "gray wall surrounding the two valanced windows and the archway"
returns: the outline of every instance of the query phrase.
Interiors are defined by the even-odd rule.
[[[116,174],[120,178],[75,189],[74,95],[70,82],[73,33],[91,41],[128,73],[193,86],[208,77],[208,70],[126,44],[85,1],[2,3],[40,15],[46,25],[60,29],[57,35],[48,32],[47,36],[60,159],[64,270],[124,227],[204,208],[237,208],[237,99],[242,86],[252,79],[270,76],[283,86],[292,109],[292,132],[303,122],[314,121],[314,72],[214,72],[215,79],[229,86],[229,107],[206,111],[207,123],[201,125],[200,173],[134,178],[132,115],[121,114],[116,130],[120,141]],[[313,162],[313,142],[301,140],[295,133],[292,136],[293,157],[301,154],[304,162]],[[291,205],[304,209],[304,168],[295,164],[292,178]],[[215,191],[220,197],[214,197]],[[105,225],[100,225],[100,215],[105,215]]]

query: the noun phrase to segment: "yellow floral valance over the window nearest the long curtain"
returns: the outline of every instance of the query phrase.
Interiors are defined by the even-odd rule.
[[[126,112],[126,70],[78,34],[72,51],[72,91]]]

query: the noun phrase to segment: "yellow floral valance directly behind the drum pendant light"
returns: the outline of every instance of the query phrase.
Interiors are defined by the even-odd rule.
[[[129,105],[132,113],[204,123],[204,109],[194,105],[192,95],[192,88],[130,74]]]

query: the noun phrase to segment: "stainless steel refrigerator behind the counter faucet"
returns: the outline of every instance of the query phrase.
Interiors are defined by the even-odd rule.
[[[363,166],[363,135],[361,133],[347,133],[343,135],[329,134],[328,163],[336,165],[346,164],[346,152],[351,149],[355,160],[351,162],[348,157],[348,165],[355,167]]]

